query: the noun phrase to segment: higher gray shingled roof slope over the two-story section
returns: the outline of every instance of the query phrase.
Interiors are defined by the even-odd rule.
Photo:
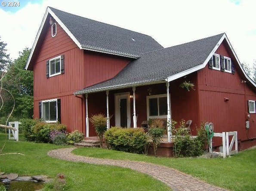
[[[99,47],[139,56],[163,48],[151,36],[49,8],[82,46]]]

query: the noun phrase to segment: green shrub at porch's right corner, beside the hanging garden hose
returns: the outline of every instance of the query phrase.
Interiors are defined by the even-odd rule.
[[[206,141],[207,135],[204,130],[204,124],[200,125],[197,130],[197,137],[194,139],[191,138],[187,130],[179,128],[174,138],[173,155],[175,157],[200,156],[204,152]]]

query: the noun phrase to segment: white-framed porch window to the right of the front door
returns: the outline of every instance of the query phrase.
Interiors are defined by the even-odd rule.
[[[147,96],[148,118],[166,118],[167,117],[167,95],[149,95]]]

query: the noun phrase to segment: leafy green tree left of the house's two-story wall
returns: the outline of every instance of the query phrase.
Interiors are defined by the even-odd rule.
[[[25,66],[31,50],[25,48],[18,59],[10,63],[6,68],[3,78],[3,88],[9,90],[15,98],[15,109],[12,116],[17,118],[31,118],[33,116],[33,72],[25,70]],[[13,100],[4,92],[5,107],[0,116],[6,116],[12,108]]]

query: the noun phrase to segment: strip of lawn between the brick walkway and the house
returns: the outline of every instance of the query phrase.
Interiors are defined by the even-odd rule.
[[[234,191],[256,191],[256,149],[230,158],[164,158],[98,148],[78,148],[75,155],[145,161],[175,168],[212,185]]]

